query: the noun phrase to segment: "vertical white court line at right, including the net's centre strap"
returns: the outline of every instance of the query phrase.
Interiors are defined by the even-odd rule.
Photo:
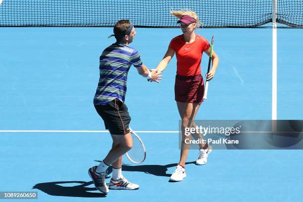
[[[272,0],[272,131],[277,130],[277,0]]]

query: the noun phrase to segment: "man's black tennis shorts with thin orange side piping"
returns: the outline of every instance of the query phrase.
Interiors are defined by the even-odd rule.
[[[107,104],[94,104],[98,114],[104,121],[105,129],[112,135],[126,135],[129,133],[131,117],[123,101],[114,99]]]

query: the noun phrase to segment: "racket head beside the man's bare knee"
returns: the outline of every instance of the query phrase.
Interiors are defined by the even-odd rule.
[[[130,151],[126,152],[126,156],[135,164],[142,163],[146,158],[145,146],[141,138],[130,127],[129,130],[133,138],[133,147]]]

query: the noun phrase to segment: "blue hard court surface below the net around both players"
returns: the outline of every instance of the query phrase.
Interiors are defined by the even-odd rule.
[[[136,31],[131,47],[149,68],[181,34],[180,29]],[[134,165],[124,157],[122,170],[140,189],[98,192],[87,170],[112,143],[108,133],[92,132],[105,130],[93,97],[99,56],[114,43],[107,39],[111,33],[112,28],[0,28],[0,191],[36,191],[41,202],[301,201],[300,150],[214,150],[203,166],[194,164],[198,151],[192,150],[187,177],[168,182],[180,153],[178,133],[167,133],[179,129],[175,57],[160,84],[146,82],[134,67],[128,75],[131,126],[143,131],[138,134],[147,158]],[[220,63],[196,119],[271,119],[272,30],[197,33],[208,40],[215,36]],[[302,30],[279,29],[277,42],[278,119],[303,119]],[[203,76],[207,60],[204,55]]]

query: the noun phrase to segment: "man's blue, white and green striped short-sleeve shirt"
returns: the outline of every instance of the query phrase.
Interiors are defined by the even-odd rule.
[[[100,79],[94,104],[106,104],[114,99],[125,101],[127,74],[131,67],[142,66],[140,54],[126,44],[112,44],[100,56]]]

